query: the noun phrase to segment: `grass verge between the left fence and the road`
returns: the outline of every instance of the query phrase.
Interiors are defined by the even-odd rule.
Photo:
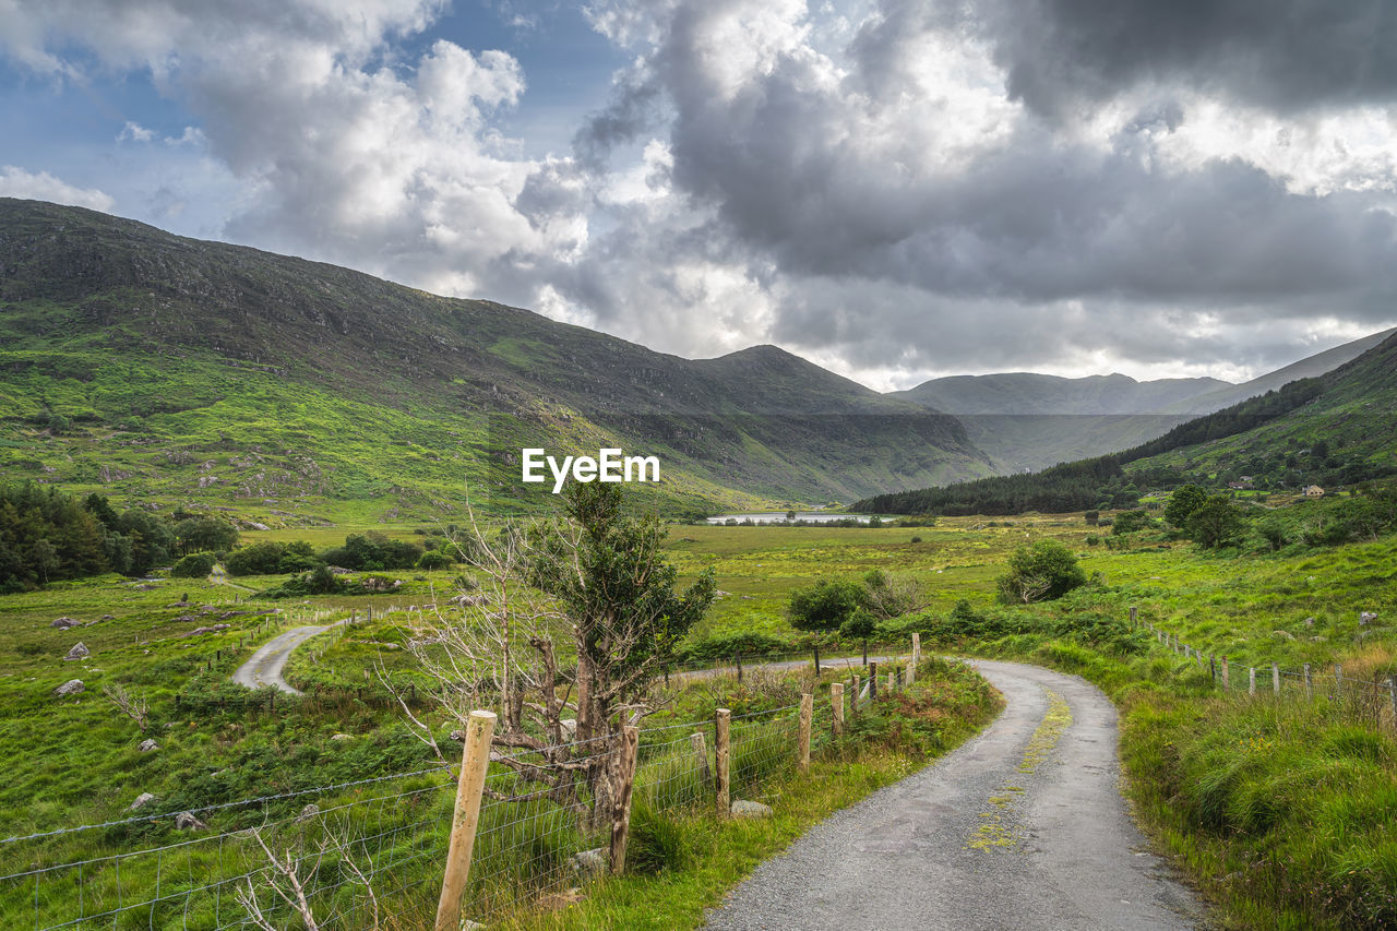
[[[553,909],[492,927],[700,927],[704,911],[763,860],[835,811],[958,746],[1002,707],[999,695],[972,671],[928,660],[916,685],[861,709],[848,735],[827,744],[807,776],[778,776],[763,786],[771,818],[718,821],[704,811],[640,805],[627,875],[590,886],[585,897],[564,896]]]

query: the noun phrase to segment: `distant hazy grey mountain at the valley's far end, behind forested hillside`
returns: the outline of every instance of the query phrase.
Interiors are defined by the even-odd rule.
[[[1323,375],[1397,330],[1376,333],[1243,384],[1218,379],[1136,382],[1125,375],[1066,379],[1013,372],[932,379],[890,393],[954,415],[1002,474],[1133,449],[1190,417],[1220,411],[1296,379]]]

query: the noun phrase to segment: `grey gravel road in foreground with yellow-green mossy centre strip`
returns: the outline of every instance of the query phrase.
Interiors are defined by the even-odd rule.
[[[761,864],[710,928],[1201,928],[1118,788],[1116,712],[1080,678],[978,661],[978,737]]]

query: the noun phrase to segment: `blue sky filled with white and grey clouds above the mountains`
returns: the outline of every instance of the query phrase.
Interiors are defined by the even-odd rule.
[[[0,194],[877,389],[1397,323],[1390,0],[0,0]]]

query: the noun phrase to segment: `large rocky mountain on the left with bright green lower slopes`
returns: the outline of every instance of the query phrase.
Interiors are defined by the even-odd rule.
[[[682,359],[488,301],[0,199],[0,478],[263,523],[541,503],[518,452],[657,454],[668,510],[992,471],[775,347]]]

